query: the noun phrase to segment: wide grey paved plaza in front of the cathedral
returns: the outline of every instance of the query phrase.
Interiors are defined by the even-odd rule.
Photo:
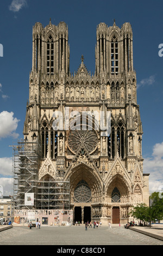
[[[108,245],[163,245],[163,241],[124,229],[116,224],[108,229],[102,225],[96,229],[84,225],[72,227],[41,226],[40,229],[28,227],[13,227],[0,232],[1,245],[55,245],[64,246],[93,246],[106,248]],[[77,247],[75,247],[77,248]]]

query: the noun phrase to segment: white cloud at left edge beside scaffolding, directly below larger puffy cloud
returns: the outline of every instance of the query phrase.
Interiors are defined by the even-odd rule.
[[[0,175],[12,176],[12,157],[0,158]]]

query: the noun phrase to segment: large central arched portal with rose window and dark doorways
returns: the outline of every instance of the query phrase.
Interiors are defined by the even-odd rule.
[[[70,206],[74,210],[74,222],[77,221],[77,207],[82,209],[82,223],[90,222],[94,205],[101,204],[102,180],[99,174],[95,169],[81,163],[70,169],[66,179],[70,180]]]

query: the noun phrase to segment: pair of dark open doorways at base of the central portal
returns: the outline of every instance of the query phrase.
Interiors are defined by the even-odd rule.
[[[74,208],[74,223],[80,222],[85,223],[87,221],[91,221],[91,207],[90,206],[84,206],[82,208],[81,206],[76,206]]]

